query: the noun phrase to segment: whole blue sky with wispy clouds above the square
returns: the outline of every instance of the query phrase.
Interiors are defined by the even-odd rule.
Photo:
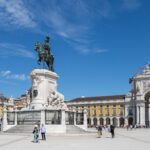
[[[148,0],[0,0],[0,92],[19,97],[51,37],[65,99],[126,94],[150,61]]]

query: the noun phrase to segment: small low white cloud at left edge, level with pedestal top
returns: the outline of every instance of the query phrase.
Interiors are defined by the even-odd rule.
[[[25,74],[14,74],[10,70],[0,71],[0,76],[6,79],[15,79],[15,80],[27,80],[28,77]]]

